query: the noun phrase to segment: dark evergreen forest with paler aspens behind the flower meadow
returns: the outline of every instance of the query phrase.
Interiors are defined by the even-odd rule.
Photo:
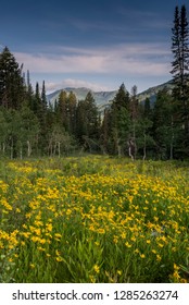
[[[189,158],[189,27],[185,5],[175,8],[172,28],[174,89],[155,102],[139,102],[137,86],[122,84],[100,113],[92,94],[77,100],[62,90],[49,105],[45,81],[30,84],[29,71],[8,47],[0,53],[0,156],[26,158],[88,151],[131,159]],[[148,85],[148,84],[147,84]]]

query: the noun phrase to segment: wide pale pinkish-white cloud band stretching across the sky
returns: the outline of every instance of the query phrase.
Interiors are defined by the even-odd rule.
[[[16,52],[32,73],[121,73],[163,76],[169,71],[171,51],[163,44],[117,45],[103,48],[59,47],[51,53]]]

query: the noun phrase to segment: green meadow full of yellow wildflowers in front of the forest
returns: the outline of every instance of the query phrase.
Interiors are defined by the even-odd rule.
[[[189,167],[0,161],[0,282],[189,282]]]

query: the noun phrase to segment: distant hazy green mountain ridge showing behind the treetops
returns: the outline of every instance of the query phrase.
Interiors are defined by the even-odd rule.
[[[146,98],[149,98],[151,103],[153,105],[156,99],[156,94],[164,88],[167,88],[168,91],[172,91],[172,89],[173,89],[172,81],[168,81],[164,84],[161,84],[161,85],[158,85],[154,87],[151,87],[151,88],[138,94],[137,98],[138,98],[139,102],[144,102]],[[80,87],[80,88],[67,87],[67,88],[56,90],[47,96],[48,101],[52,106],[54,105],[54,101],[59,99],[59,95],[60,95],[61,90],[65,90],[67,94],[73,91],[75,94],[77,100],[84,100],[86,98],[88,91],[91,91],[100,112],[102,112],[105,107],[108,107],[112,103],[112,100],[114,99],[114,97],[117,93],[117,90],[93,91],[93,90],[91,90],[89,88],[85,88],[85,87]]]

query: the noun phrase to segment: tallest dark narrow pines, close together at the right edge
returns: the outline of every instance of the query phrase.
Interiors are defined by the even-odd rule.
[[[175,19],[173,27],[172,51],[174,61],[172,62],[174,82],[174,120],[180,125],[179,146],[189,152],[189,27],[187,21],[187,10],[182,5],[179,11],[175,8]]]

